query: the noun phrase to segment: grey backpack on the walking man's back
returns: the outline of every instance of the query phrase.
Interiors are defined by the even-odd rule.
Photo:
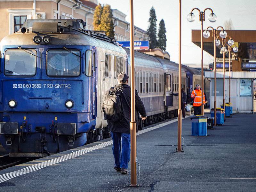
[[[110,88],[110,93],[105,96],[102,101],[102,110],[104,119],[107,121],[120,121],[122,117],[122,104],[120,95],[114,91],[114,87]]]

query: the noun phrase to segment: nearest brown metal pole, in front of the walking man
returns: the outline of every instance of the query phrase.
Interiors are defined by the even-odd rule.
[[[134,86],[134,25],[133,0],[130,0],[130,48],[131,48],[131,185],[137,186],[136,172],[136,122],[135,122],[135,86]]]

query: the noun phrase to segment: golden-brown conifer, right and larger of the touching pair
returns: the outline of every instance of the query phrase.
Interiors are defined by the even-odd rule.
[[[100,18],[99,30],[106,31],[106,35],[110,37],[115,36],[113,15],[110,5],[105,5]]]

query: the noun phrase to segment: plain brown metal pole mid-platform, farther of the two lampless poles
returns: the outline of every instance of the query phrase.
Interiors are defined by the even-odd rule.
[[[179,106],[178,106],[178,147],[177,152],[181,152],[181,0],[179,0]]]

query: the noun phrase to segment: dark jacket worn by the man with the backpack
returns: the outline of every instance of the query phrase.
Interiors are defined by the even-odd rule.
[[[108,121],[108,131],[130,133],[130,122],[131,122],[131,87],[126,84],[117,84],[114,87],[116,94],[121,96],[123,119],[118,122]],[[105,100],[106,95],[110,94],[110,89],[106,92],[103,97],[102,103]],[[138,91],[135,90],[135,121],[136,131],[139,126],[139,113],[142,117],[147,116],[145,107],[140,99]]]

